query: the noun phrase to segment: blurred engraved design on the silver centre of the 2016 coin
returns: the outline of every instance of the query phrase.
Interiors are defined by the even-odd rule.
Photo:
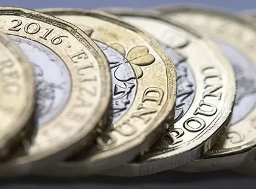
[[[49,83],[44,79],[44,71],[37,64],[32,63],[34,76],[35,76],[35,86],[36,86],[36,108],[35,115],[37,118],[42,118],[44,115],[52,110],[55,101],[55,91],[56,89],[62,90],[61,85],[56,85],[54,83]]]

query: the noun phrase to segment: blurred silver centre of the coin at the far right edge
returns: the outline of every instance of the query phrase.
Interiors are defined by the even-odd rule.
[[[236,75],[236,100],[231,125],[243,120],[256,105],[256,69],[240,50],[215,39],[231,62]]]

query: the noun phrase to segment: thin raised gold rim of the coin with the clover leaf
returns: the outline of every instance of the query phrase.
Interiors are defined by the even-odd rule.
[[[164,65],[166,66],[166,75],[168,77],[167,79],[167,85],[168,85],[168,100],[166,100],[165,105],[162,106],[161,111],[159,112],[159,116],[156,118],[157,122],[152,123],[152,125],[155,125],[155,127],[150,128],[150,132],[147,134],[143,133],[141,137],[138,137],[137,139],[129,142],[129,149],[126,151],[129,151],[131,153],[138,153],[138,151],[141,151],[141,147],[147,148],[145,146],[151,146],[153,144],[152,136],[155,137],[154,133],[159,130],[159,125],[164,125],[169,119],[173,119],[174,117],[174,105],[176,102],[176,69],[174,67],[174,64],[172,60],[169,59],[168,55],[165,54],[161,50],[161,46],[159,43],[156,42],[154,38],[152,38],[149,34],[145,33],[144,31],[138,30],[138,28],[135,28],[134,26],[131,26],[130,24],[126,23],[125,21],[119,19],[117,16],[114,16],[112,14],[107,14],[99,10],[87,10],[87,9],[73,9],[73,8],[50,8],[50,9],[39,9],[39,11],[44,11],[44,13],[52,13],[55,16],[60,16],[61,14],[64,15],[76,15],[76,16],[94,16],[94,18],[99,18],[106,21],[111,21],[112,23],[119,25],[121,27],[127,28],[128,30],[132,30],[135,33],[138,33],[138,35],[142,36],[149,44],[150,46],[155,50],[155,52],[159,55],[159,57],[164,62]],[[67,14],[68,12],[68,14]],[[52,15],[51,14],[51,15]],[[160,50],[159,50],[160,49]],[[170,108],[171,107],[171,108]],[[171,110],[170,110],[171,109]],[[161,114],[162,112],[162,114]],[[167,117],[169,115],[169,117]],[[151,136],[152,135],[152,136]],[[160,137],[160,136],[159,136]],[[155,140],[155,139],[154,139]],[[155,142],[155,141],[154,141]],[[111,159],[118,159],[119,156],[123,155],[125,152],[123,149],[123,146],[126,146],[126,144],[123,144],[121,146],[115,147],[111,150],[113,152],[112,156],[108,155],[108,151],[100,152],[99,154],[93,155],[92,158],[88,157],[88,159],[91,159],[95,161],[95,163],[103,163],[106,161],[106,158]],[[121,154],[118,154],[118,151],[121,149]],[[103,154],[103,155],[102,155]],[[106,155],[108,157],[106,157]],[[104,156],[105,155],[105,156]],[[94,156],[98,156],[99,158],[94,158]],[[134,154],[133,154],[134,157]],[[130,161],[133,157],[123,157],[126,161]],[[96,159],[96,160],[95,160]],[[87,161],[84,161],[86,163]],[[72,162],[72,163],[60,163],[59,166],[67,166],[71,167],[73,166],[83,166],[83,162]],[[104,163],[103,163],[104,164]],[[74,176],[74,175],[72,175]]]

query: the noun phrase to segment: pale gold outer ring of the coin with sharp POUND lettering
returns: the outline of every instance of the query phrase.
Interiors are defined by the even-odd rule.
[[[195,97],[188,112],[170,126],[164,137],[149,152],[132,163],[107,170],[104,174],[149,175],[176,168],[202,156],[226,131],[231,117],[235,100],[235,74],[230,62],[210,38],[164,18],[161,13],[121,8],[106,10],[135,26],[140,26],[161,43],[173,45],[178,53],[185,55],[195,78]],[[206,74],[205,71],[210,72]],[[182,75],[177,72],[178,96],[185,92],[180,88],[179,93]],[[185,88],[188,89],[188,86]],[[222,95],[219,96],[220,94]],[[179,98],[177,104],[178,101]],[[205,105],[211,108],[207,110]],[[193,125],[192,120],[202,125]]]

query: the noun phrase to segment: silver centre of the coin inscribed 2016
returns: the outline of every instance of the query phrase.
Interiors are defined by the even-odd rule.
[[[9,35],[33,66],[36,86],[35,122],[40,127],[63,110],[71,93],[71,76],[51,49],[28,38]]]

